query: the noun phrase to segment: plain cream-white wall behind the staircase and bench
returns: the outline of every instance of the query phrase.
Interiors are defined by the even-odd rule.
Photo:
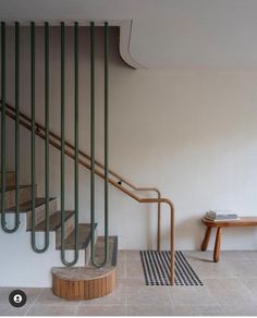
[[[37,59],[42,58],[38,30]],[[103,157],[102,32],[97,36],[97,159]],[[157,186],[175,205],[176,248],[199,248],[200,218],[209,209],[257,212],[257,71],[132,70],[118,54],[111,33],[110,168],[140,186]],[[72,29],[68,32],[72,44]],[[89,33],[81,30],[79,148],[89,149]],[[29,113],[29,34],[23,30],[22,110]],[[13,56],[11,48],[10,57]],[[68,48],[66,139],[73,140],[72,47]],[[9,64],[9,70],[13,65]],[[25,73],[24,73],[25,72]],[[44,64],[37,62],[37,120],[44,122]],[[14,100],[9,72],[8,100]],[[59,29],[51,29],[51,130],[60,134]],[[10,133],[10,144],[13,136]],[[37,142],[37,183],[44,195],[44,148]],[[29,134],[22,138],[22,180],[29,183]],[[51,151],[52,195],[60,196],[59,152]],[[10,152],[9,166],[13,168]],[[89,173],[79,170],[79,216],[89,220]],[[66,208],[73,207],[73,162],[66,159]],[[97,183],[97,220],[103,224],[103,187]],[[162,208],[163,246],[168,247],[169,213]],[[156,207],[142,206],[110,191],[110,232],[120,248],[155,248]],[[225,230],[222,247],[255,249],[254,229]]]

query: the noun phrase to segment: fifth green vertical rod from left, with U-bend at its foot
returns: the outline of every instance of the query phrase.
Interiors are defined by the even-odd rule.
[[[73,266],[77,261],[75,250],[73,261],[65,260],[65,24],[61,22],[61,260],[65,266]],[[77,246],[75,246],[77,249]]]

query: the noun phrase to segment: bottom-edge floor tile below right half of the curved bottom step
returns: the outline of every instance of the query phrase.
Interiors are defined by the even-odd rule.
[[[79,306],[77,316],[125,316],[125,305]]]

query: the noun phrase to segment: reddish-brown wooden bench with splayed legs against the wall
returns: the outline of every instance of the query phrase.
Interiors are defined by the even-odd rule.
[[[257,227],[257,217],[245,217],[235,221],[219,221],[219,222],[209,221],[203,218],[201,222],[207,227],[205,238],[201,244],[201,250],[206,250],[208,248],[211,229],[217,228],[215,252],[213,252],[213,261],[217,262],[220,259],[221,229],[222,228]]]

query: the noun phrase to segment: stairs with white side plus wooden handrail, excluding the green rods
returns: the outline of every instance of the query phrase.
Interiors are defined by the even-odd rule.
[[[1,101],[0,101],[1,102]],[[16,114],[15,109],[10,106],[5,105],[7,107],[7,117],[14,120],[16,122]],[[0,111],[2,108],[0,107]],[[27,131],[32,131],[32,120],[29,117],[27,117],[25,113],[20,111],[20,125]],[[39,137],[42,140],[46,140],[46,129],[38,122],[36,122],[36,131],[35,135]],[[61,149],[61,138],[54,134],[53,132],[49,132],[50,139],[49,144],[60,150]],[[74,160],[74,146],[65,140],[65,156],[70,157]],[[78,150],[79,158],[78,163],[81,167],[90,170],[90,156],[88,156],[86,152]],[[105,166],[102,166],[97,160],[95,161],[96,169],[95,174],[98,175],[100,179],[105,179],[103,169]],[[14,172],[7,173],[5,172],[5,182],[7,182],[7,192],[5,192],[5,207],[7,207],[7,215],[13,213],[15,211],[15,182],[14,182]],[[0,181],[1,181],[1,174],[0,174]],[[156,187],[138,187],[132,184],[130,181],[127,181],[122,175],[115,173],[112,170],[109,170],[109,184],[121,191],[123,194],[130,196],[132,199],[136,200],[139,204],[157,204],[158,207],[158,224],[157,224],[157,249],[161,249],[161,204],[166,204],[169,206],[170,209],[170,253],[171,253],[171,266],[170,266],[170,282],[171,285],[174,284],[174,206],[171,200],[168,198],[161,197],[161,194],[158,188]],[[156,193],[157,198],[142,198],[137,195],[137,193]],[[60,211],[57,211],[57,198],[49,198],[49,215],[50,218],[50,241],[56,242],[54,246],[49,246],[49,250],[47,250],[44,256],[36,255],[32,250],[30,247],[30,186],[21,186],[20,189],[21,193],[21,215],[24,215],[21,220],[25,224],[24,227],[20,227],[19,230],[13,233],[12,235],[5,234],[4,232],[0,231],[0,250],[5,250],[7,247],[4,245],[4,242],[7,242],[7,235],[8,235],[8,242],[9,242],[9,249],[13,250],[23,250],[21,253],[21,257],[19,259],[20,267],[27,267],[27,264],[33,262],[33,267],[29,271],[29,274],[26,278],[26,286],[50,286],[52,283],[51,277],[49,277],[49,267],[54,267],[52,270],[52,278],[53,278],[53,292],[57,295],[60,295],[61,297],[65,298],[84,298],[84,297],[95,297],[96,294],[94,291],[98,291],[99,295],[102,293],[108,293],[112,289],[114,289],[114,273],[115,273],[115,266],[117,266],[117,244],[110,244],[110,246],[114,246],[113,249],[110,252],[110,260],[107,264],[107,271],[110,278],[110,281],[112,283],[107,283],[107,281],[102,281],[103,292],[101,292],[101,289],[99,288],[98,283],[101,278],[101,273],[103,270],[100,270],[96,267],[90,267],[90,224],[78,224],[78,240],[79,240],[79,257],[78,261],[76,264],[76,267],[78,269],[71,269],[71,268],[63,268],[63,264],[60,260],[60,252],[57,253],[58,249],[61,248],[60,246],[60,236],[61,236],[61,221],[60,221]],[[23,201],[22,201],[23,200]],[[36,232],[37,232],[37,238],[38,242],[44,242],[45,237],[45,198],[37,198],[36,199]],[[13,219],[13,217],[12,217]],[[96,225],[95,225],[96,227]],[[10,227],[11,228],[11,227]],[[70,258],[73,258],[73,250],[74,250],[74,212],[73,211],[66,211],[65,216],[65,232],[68,233],[68,237],[65,237],[64,242],[64,250],[66,250],[66,256],[71,256]],[[97,229],[97,228],[96,228]],[[21,235],[21,232],[27,233],[26,237]],[[2,237],[5,236],[5,237]],[[16,237],[19,236],[19,237]],[[109,237],[110,242],[113,241],[113,237]],[[25,241],[23,243],[23,241]],[[115,238],[117,241],[117,238]],[[12,244],[11,244],[12,242]],[[102,237],[99,237],[97,240],[97,246],[96,252],[103,255],[103,252],[99,252],[102,248],[100,247],[100,242],[102,242]],[[17,247],[17,243],[20,244],[20,247]],[[44,244],[42,244],[44,245]],[[26,248],[24,250],[24,248]],[[69,258],[69,259],[70,259]],[[102,257],[103,258],[103,257]],[[5,268],[5,274],[2,270],[1,265],[1,272],[3,273],[0,276],[0,285],[3,286],[13,286],[17,285],[21,281],[21,286],[24,285],[24,280],[21,280],[21,274],[19,272],[20,267],[15,266],[17,258],[13,259],[12,267],[10,269],[10,261],[8,268]],[[24,262],[23,262],[24,260]],[[98,262],[98,259],[96,259]],[[84,268],[84,266],[89,266]],[[62,267],[62,268],[61,268]],[[83,268],[81,268],[83,267]],[[35,270],[35,268],[40,269],[40,277],[41,279],[38,279],[38,272]],[[87,274],[84,273],[84,271],[87,271]],[[10,271],[15,272],[16,274],[12,274],[10,277]],[[91,272],[95,271],[95,280],[91,279]],[[89,274],[90,273],[90,274]],[[44,279],[42,279],[44,277]],[[60,277],[60,280],[59,280]],[[112,277],[112,280],[111,280]],[[82,279],[81,279],[82,278]],[[103,274],[102,279],[107,279],[107,276]],[[29,281],[30,280],[30,281]],[[42,281],[45,282],[42,284]],[[91,284],[94,284],[94,288],[89,286],[89,281]],[[13,283],[12,283],[13,282]],[[29,283],[30,282],[30,283]],[[87,282],[87,283],[86,283]],[[69,292],[70,288],[69,284],[73,285],[74,292]],[[89,293],[89,290],[91,293]],[[64,292],[65,291],[65,292]],[[72,290],[71,290],[72,291]],[[82,294],[77,295],[77,292],[75,291],[83,291]]]

